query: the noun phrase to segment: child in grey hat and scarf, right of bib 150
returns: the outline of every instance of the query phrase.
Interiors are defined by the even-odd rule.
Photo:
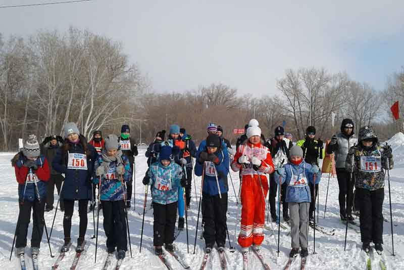
[[[118,148],[118,137],[108,135],[105,149],[94,164],[97,177],[93,178],[93,184],[100,185],[108,253],[117,248],[117,258],[123,259],[127,250],[124,182],[130,181],[131,168],[128,158]]]

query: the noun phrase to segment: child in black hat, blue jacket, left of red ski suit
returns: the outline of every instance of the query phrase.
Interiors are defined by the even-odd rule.
[[[209,253],[215,242],[220,251],[224,249],[226,243],[229,155],[223,153],[221,140],[217,134],[209,134],[206,147],[206,150],[199,153],[195,163],[195,175],[204,174],[202,215],[205,221],[205,247]]]

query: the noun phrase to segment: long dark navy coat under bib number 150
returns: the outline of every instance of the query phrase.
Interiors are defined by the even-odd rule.
[[[76,144],[66,140],[65,146],[58,150],[52,162],[56,171],[65,174],[62,195],[66,200],[90,200],[92,198],[90,178],[93,174],[94,162],[98,154],[94,147],[87,143],[84,136],[80,135],[79,139],[80,141]],[[66,151],[65,148],[69,148],[69,150]],[[85,148],[87,148],[87,152],[85,152]],[[84,159],[87,161],[87,169],[71,168],[72,164],[70,162],[73,163],[73,159],[77,161],[77,158],[80,157],[80,155],[74,157],[72,155],[74,153],[84,155]],[[71,154],[70,162],[69,154]]]

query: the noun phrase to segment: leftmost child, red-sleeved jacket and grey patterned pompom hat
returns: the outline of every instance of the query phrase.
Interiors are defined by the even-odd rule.
[[[40,155],[39,143],[35,135],[30,135],[24,143],[22,152],[11,160],[18,182],[18,214],[16,232],[16,253],[24,254],[27,245],[27,232],[31,208],[33,227],[31,235],[31,253],[38,255],[43,234],[43,212],[47,181],[51,175],[46,158]]]

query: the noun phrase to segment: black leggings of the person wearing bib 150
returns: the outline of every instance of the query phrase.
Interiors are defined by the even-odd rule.
[[[87,205],[88,200],[79,201],[79,238],[84,239],[85,231],[87,230]],[[65,238],[70,238],[70,231],[72,229],[72,216],[74,210],[74,200],[64,200],[65,203],[65,215],[63,217],[63,232]]]

